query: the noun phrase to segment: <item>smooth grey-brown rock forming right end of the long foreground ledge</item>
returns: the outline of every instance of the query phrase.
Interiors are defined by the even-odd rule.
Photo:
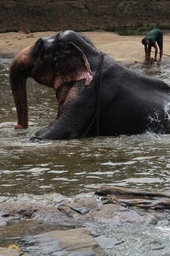
[[[108,224],[116,223],[145,223],[157,224],[158,221],[154,215],[139,214],[136,211],[128,210],[127,208],[117,204],[104,204],[87,215],[87,218],[101,221]]]

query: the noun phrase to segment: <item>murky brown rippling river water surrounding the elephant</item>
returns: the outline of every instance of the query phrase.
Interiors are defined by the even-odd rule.
[[[29,128],[14,130],[10,63],[11,59],[0,59],[0,202],[53,202],[59,194],[73,197],[102,185],[170,191],[170,135],[147,132],[31,143],[35,132],[57,115],[55,91],[31,78],[27,81]],[[170,84],[167,66],[131,68]]]

